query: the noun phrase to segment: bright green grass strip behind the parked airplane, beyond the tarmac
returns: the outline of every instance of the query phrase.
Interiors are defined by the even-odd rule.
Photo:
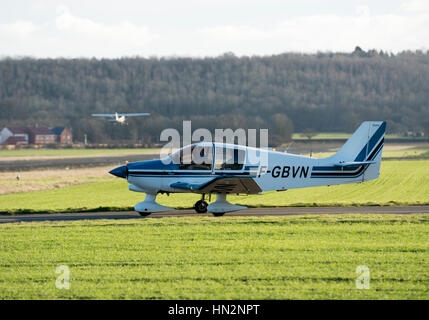
[[[172,194],[160,195],[158,200],[175,208],[191,208],[199,197]],[[144,194],[128,191],[125,180],[107,178],[102,182],[49,191],[2,195],[0,212],[132,210],[143,199]],[[384,161],[378,179],[360,184],[230,196],[228,199],[250,207],[429,204],[429,161]]]

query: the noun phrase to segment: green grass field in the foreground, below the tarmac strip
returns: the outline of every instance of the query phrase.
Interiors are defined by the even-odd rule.
[[[423,215],[3,224],[0,299],[429,299],[428,237]]]

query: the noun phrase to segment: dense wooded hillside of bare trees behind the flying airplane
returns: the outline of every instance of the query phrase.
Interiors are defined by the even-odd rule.
[[[150,112],[128,126],[91,113]],[[0,60],[0,125],[64,125],[74,140],[159,142],[165,128],[268,128],[271,144],[364,120],[429,135],[429,53]]]

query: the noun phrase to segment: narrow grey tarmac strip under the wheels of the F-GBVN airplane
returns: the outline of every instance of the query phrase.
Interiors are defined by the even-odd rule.
[[[288,208],[256,208],[238,212],[226,213],[226,217],[252,217],[252,216],[290,216],[305,214],[429,214],[429,206],[410,207],[288,207]],[[213,217],[211,214],[198,214],[194,210],[175,210],[161,213],[153,213],[146,218],[164,217]],[[90,213],[57,213],[57,214],[18,214],[0,215],[0,223],[10,222],[37,222],[37,221],[70,221],[70,220],[95,220],[95,219],[145,219],[137,212],[90,212]],[[214,217],[213,217],[214,218]]]

